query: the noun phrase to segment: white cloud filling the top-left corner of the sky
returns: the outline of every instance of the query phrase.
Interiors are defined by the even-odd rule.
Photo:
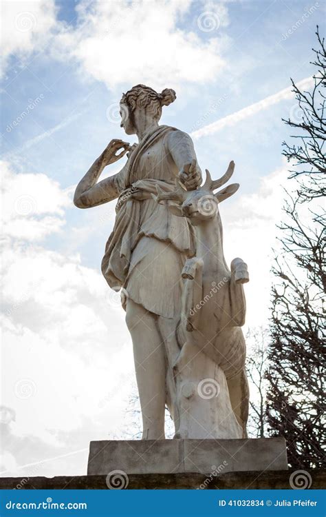
[[[10,55],[24,61],[42,50],[56,24],[54,0],[5,0],[1,2],[2,69],[6,70]]]

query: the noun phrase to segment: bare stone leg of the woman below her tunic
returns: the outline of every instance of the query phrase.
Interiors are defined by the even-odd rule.
[[[143,440],[164,439],[165,352],[157,316],[130,298],[126,323],[133,341],[135,374],[142,408]]]

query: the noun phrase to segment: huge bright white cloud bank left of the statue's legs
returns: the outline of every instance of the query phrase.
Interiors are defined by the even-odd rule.
[[[36,459],[38,475],[84,474],[90,440],[129,431],[125,399],[134,373],[124,312],[100,271],[41,245],[65,221],[67,192],[44,174],[3,169],[9,237],[2,254],[1,404],[16,419],[2,423],[0,463],[17,475]],[[29,203],[17,215],[22,195],[32,196],[32,216]],[[53,225],[45,232],[48,217]],[[13,232],[10,219],[24,231]],[[67,453],[79,449],[72,463]]]

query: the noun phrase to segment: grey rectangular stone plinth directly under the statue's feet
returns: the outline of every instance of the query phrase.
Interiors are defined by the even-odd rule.
[[[221,474],[286,470],[284,438],[241,440],[103,440],[91,442],[88,475]]]

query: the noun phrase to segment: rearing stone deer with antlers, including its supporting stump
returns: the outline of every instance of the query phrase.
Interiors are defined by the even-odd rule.
[[[173,214],[188,218],[196,236],[196,255],[182,271],[180,349],[173,358],[176,438],[246,437],[249,391],[241,326],[246,316],[243,283],[249,276],[241,259],[234,259],[230,269],[226,264],[219,215],[219,203],[239,184],[213,193],[234,169],[231,161],[220,179],[212,180],[206,170],[206,181],[197,190],[186,191],[176,182],[172,192],[157,187],[155,196],[158,203],[169,202]]]

